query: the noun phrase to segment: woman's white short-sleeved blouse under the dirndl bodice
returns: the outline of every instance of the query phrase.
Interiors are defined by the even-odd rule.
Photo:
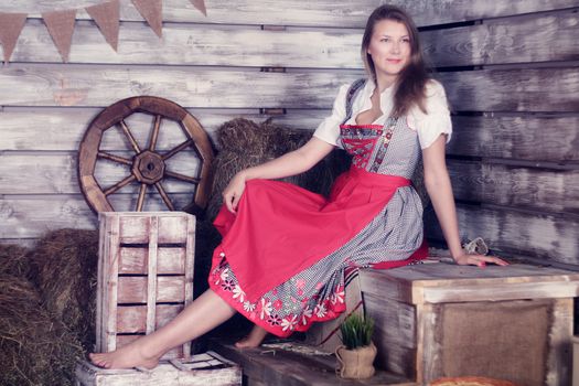
[[[367,81],[364,88],[357,93],[352,105],[352,117],[346,121],[346,125],[356,125],[356,116],[361,111],[372,108],[369,98],[375,87],[374,82]],[[314,137],[333,146],[340,146],[337,138],[340,137],[340,125],[346,117],[345,100],[349,88],[350,84],[340,87],[334,100],[332,115],[325,118],[313,133]],[[380,110],[384,114],[373,125],[384,125],[393,107],[394,86],[390,86],[380,94]],[[452,135],[450,111],[444,87],[439,82],[432,79],[426,85],[425,107],[428,111],[427,114],[422,112],[418,106],[414,106],[406,116],[408,127],[418,132],[420,148],[428,148],[442,133],[447,135],[447,142],[450,141]]]

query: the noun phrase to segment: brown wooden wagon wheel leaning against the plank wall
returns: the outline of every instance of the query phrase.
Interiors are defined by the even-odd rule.
[[[153,127],[150,132],[148,144],[141,149],[135,139],[125,119],[135,112],[147,112],[153,117]],[[173,149],[160,152],[157,150],[157,141],[161,122],[170,119],[179,124],[183,129],[186,140]],[[135,152],[132,159],[119,157],[100,150],[103,135],[110,128],[119,128],[130,143]],[[200,173],[197,176],[184,175],[169,170],[165,161],[180,151],[193,149],[200,159]],[[140,96],[117,101],[105,108],[88,126],[78,150],[78,180],[81,190],[95,212],[114,212],[108,196],[130,183],[139,183],[136,212],[141,212],[144,204],[146,193],[150,186],[154,186],[161,195],[164,204],[170,211],[175,211],[175,205],[169,197],[162,185],[163,179],[175,179],[191,183],[196,186],[194,199],[183,211],[201,214],[207,205],[212,189],[213,173],[211,163],[213,150],[206,132],[200,122],[181,106],[170,100]],[[95,178],[95,168],[98,160],[108,160],[130,167],[130,175],[126,176],[112,186],[103,189]]]

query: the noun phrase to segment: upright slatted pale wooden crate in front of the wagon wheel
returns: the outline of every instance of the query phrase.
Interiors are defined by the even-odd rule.
[[[99,214],[96,351],[109,352],[173,319],[193,300],[195,217]],[[187,358],[191,343],[162,358]]]

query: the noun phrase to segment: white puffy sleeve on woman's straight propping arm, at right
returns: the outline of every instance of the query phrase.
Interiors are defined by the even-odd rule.
[[[420,148],[432,144],[440,135],[447,135],[447,143],[452,135],[452,122],[444,87],[437,81],[430,81],[426,86],[425,114],[418,106],[411,108],[408,115],[408,126],[418,132]]]

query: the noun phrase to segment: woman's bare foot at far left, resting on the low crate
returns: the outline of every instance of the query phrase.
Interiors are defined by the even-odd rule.
[[[149,354],[141,342],[142,339],[110,353],[90,353],[88,357],[93,364],[103,368],[154,368],[161,355]]]

